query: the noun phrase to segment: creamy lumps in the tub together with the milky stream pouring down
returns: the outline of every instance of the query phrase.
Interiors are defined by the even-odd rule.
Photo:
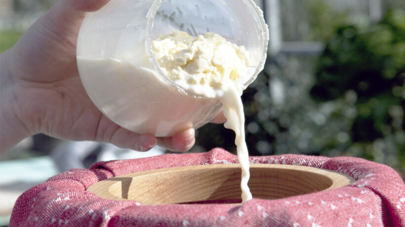
[[[238,161],[242,167],[242,201],[251,199],[241,99],[243,84],[255,70],[249,66],[248,51],[212,32],[193,37],[177,30],[157,37],[152,47],[157,62],[171,80],[195,95],[219,99],[223,104],[227,119],[224,126],[236,134]]]

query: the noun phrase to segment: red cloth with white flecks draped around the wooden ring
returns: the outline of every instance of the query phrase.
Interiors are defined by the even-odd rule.
[[[127,173],[184,165],[237,163],[222,149],[202,154],[169,154],[144,159],[98,162],[51,177],[22,194],[10,227],[71,226],[405,226],[405,185],[389,166],[359,158],[304,155],[250,157],[250,163],[314,166],[342,172],[356,182],[339,189],[283,199],[252,199],[230,204],[146,206],[102,199],[90,185]]]

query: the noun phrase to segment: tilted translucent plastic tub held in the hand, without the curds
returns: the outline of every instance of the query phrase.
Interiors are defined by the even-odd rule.
[[[152,52],[152,40],[174,29],[215,32],[245,46],[263,69],[268,29],[252,0],[111,0],[87,13],[77,44],[79,73],[94,104],[112,121],[138,133],[170,136],[209,122],[218,100],[197,97],[171,81]]]

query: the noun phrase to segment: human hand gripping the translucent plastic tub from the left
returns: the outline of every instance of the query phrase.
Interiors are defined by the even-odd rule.
[[[164,138],[125,130],[87,96],[76,63],[77,37],[85,12],[108,1],[59,0],[1,54],[1,152],[37,133],[110,142],[138,151],[147,151],[158,141],[172,151],[187,151],[194,145],[193,129]]]

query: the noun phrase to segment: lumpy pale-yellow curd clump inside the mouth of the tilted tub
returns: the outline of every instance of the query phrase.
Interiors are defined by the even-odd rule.
[[[152,47],[159,65],[171,80],[207,98],[218,97],[224,85],[242,86],[255,69],[249,67],[249,53],[244,46],[212,32],[193,37],[174,30],[153,40]]]

